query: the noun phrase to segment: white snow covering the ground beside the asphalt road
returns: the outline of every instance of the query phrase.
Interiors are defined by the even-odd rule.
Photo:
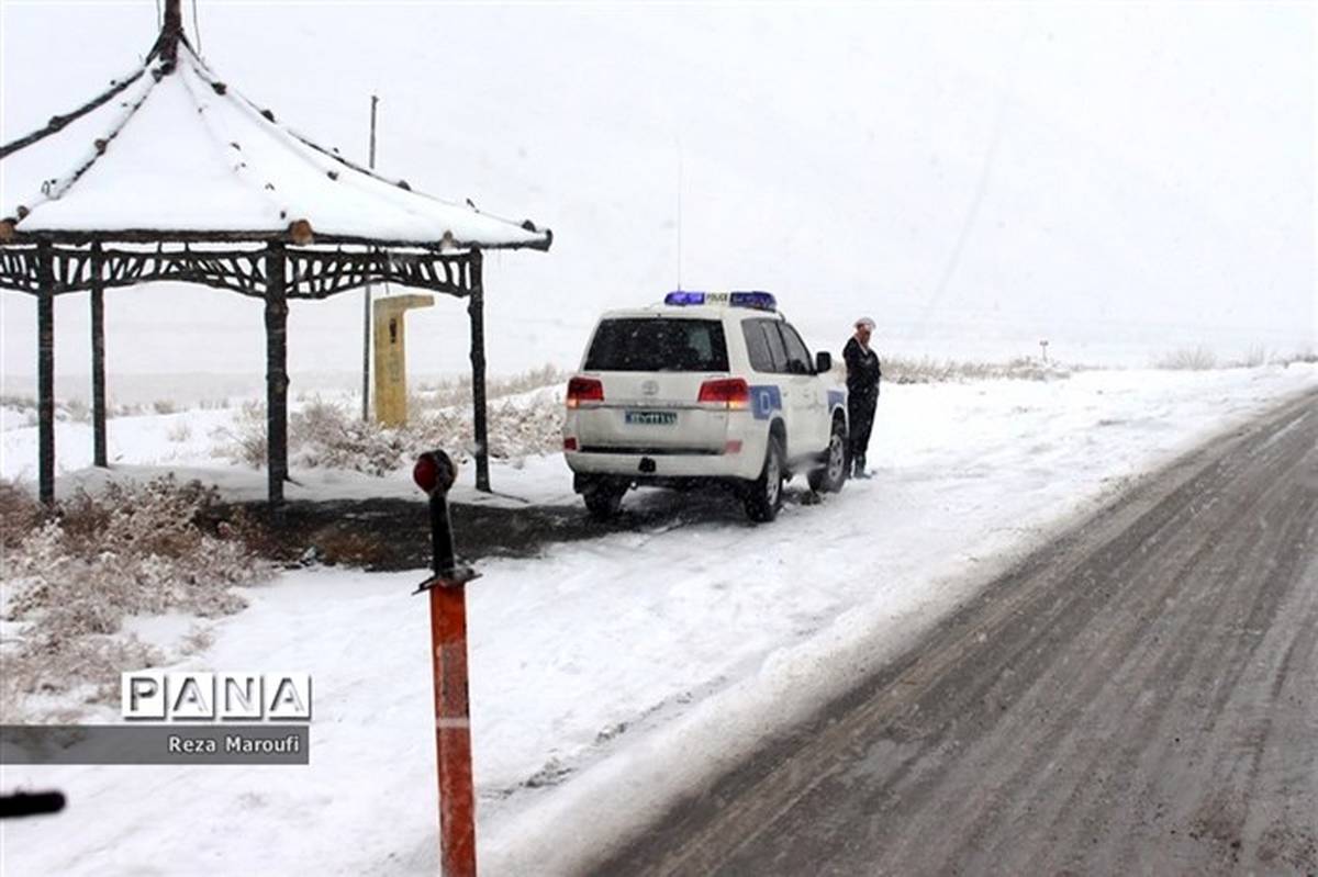
[[[801,502],[797,479],[779,519],[751,525],[730,500],[633,492],[631,507],[691,510],[534,558],[478,558],[468,614],[482,873],[588,866],[1032,548],[1315,387],[1314,363],[886,386],[874,478],[820,504]],[[88,469],[88,427],[61,423],[61,490],[173,470],[260,496],[264,473],[210,453],[232,416],[112,419],[108,475]],[[34,433],[5,424],[0,474],[30,481]],[[294,478],[293,498],[418,496],[406,471]],[[493,498],[474,492],[471,467],[463,479],[455,502],[577,502],[559,456],[497,464]],[[7,822],[0,870],[435,873],[428,614],[410,594],[422,577],[298,569],[243,589],[249,607],[228,618],[134,619],[161,643],[210,628],[212,644],[170,669],[311,673],[311,764],[7,766],[5,791],[57,787],[69,807]],[[90,719],[116,722],[117,708]]]

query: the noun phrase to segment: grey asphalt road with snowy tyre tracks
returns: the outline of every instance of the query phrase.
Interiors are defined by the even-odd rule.
[[[1144,479],[597,872],[1318,873],[1318,394]]]

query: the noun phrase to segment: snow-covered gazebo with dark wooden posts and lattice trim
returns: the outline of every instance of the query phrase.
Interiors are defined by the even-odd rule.
[[[0,288],[37,296],[43,502],[54,499],[54,296],[91,292],[95,462],[107,465],[104,290],[183,280],[265,300],[269,499],[287,479],[289,299],[390,282],[468,300],[477,486],[489,489],[481,253],[547,250],[548,229],[415,192],[231,87],[166,0],[145,62],[0,146]]]

